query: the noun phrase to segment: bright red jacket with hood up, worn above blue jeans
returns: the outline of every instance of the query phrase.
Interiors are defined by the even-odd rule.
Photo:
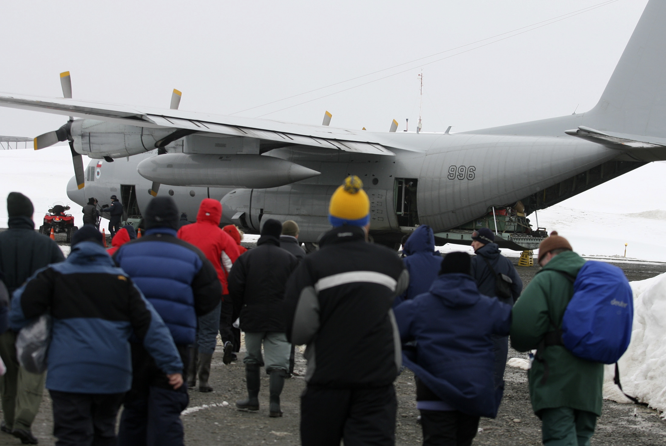
[[[199,248],[215,267],[222,284],[222,294],[229,294],[227,277],[231,266],[238,258],[236,242],[220,229],[222,204],[212,198],[201,200],[196,223],[182,226],[178,238]]]

